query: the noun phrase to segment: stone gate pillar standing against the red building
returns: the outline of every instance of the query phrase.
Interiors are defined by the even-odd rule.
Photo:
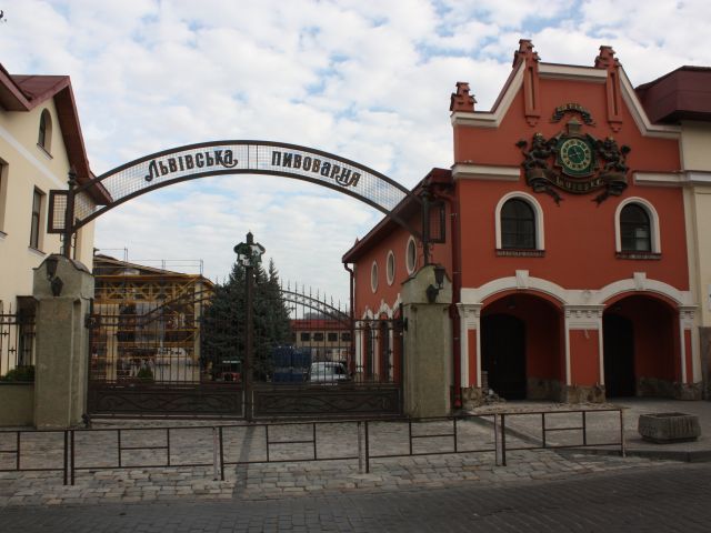
[[[452,285],[445,278],[433,303],[428,301],[430,285],[437,285],[433,265],[402,285],[404,413],[410,416],[442,416],[451,411]]]

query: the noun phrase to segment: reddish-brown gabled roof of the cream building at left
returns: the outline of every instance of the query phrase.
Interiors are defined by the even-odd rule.
[[[79,112],[71,80],[68,76],[18,76],[10,74],[0,64],[0,107],[7,111],[31,111],[46,101],[54,99],[59,127],[62,131],[69,164],[77,172],[77,180],[83,184],[93,178],[84,140],[79,124]],[[92,188],[94,191],[96,188]],[[106,203],[107,198],[98,189],[94,200]],[[106,194],[106,192],[104,192]]]

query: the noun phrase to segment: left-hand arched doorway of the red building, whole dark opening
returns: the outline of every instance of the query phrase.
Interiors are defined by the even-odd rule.
[[[484,303],[481,370],[489,389],[507,400],[561,399],[564,383],[560,309],[542,296],[515,292]]]

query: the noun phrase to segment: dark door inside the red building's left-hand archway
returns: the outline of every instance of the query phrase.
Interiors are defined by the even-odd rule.
[[[481,321],[481,370],[489,388],[507,400],[525,398],[525,323],[510,314]]]

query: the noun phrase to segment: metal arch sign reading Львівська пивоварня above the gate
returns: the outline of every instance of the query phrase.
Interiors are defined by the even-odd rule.
[[[122,164],[73,191],[51,191],[48,230],[73,233],[110,209],[152,190],[209,175],[240,173],[282,175],[334,189],[392,217],[420,238],[419,232],[393,214],[394,208],[408,197],[421,203],[403,185],[328,152],[269,141],[216,141],[179,147]],[[73,202],[69,200],[72,195]],[[70,203],[73,205],[68,215]],[[69,229],[67,220],[73,221]]]

